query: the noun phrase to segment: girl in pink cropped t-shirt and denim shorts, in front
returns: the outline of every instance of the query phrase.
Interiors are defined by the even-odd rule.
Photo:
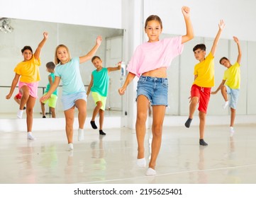
[[[162,124],[167,106],[167,67],[172,59],[182,53],[183,44],[194,37],[189,7],[182,7],[187,34],[160,40],[162,21],[159,16],[149,16],[145,21],[148,42],[139,45],[128,64],[128,76],[118,92],[123,95],[135,76],[139,77],[137,88],[136,135],[138,141],[137,165],[146,166],[145,160],[145,122],[148,106],[152,105],[152,151],[146,175],[156,175],[155,165],[162,141]]]

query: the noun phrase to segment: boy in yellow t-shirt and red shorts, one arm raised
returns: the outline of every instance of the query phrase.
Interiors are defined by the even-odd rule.
[[[214,55],[218,40],[220,39],[222,30],[225,26],[224,21],[218,24],[218,33],[213,41],[211,52],[206,57],[206,46],[204,44],[196,45],[193,48],[194,57],[199,60],[199,64],[194,67],[194,83],[191,86],[191,103],[189,105],[189,118],[185,122],[187,128],[190,127],[191,121],[196,111],[196,105],[199,103],[199,144],[207,146],[204,141],[204,128],[206,123],[206,112],[208,101],[211,95],[211,87],[214,86]]]

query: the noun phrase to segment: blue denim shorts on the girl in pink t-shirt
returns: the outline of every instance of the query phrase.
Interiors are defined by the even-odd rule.
[[[150,104],[168,106],[168,79],[140,76],[137,86],[137,98],[145,95]]]

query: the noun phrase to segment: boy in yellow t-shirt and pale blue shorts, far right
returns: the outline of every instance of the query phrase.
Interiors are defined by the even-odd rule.
[[[242,57],[242,51],[240,48],[240,42],[237,37],[233,37],[234,41],[238,45],[238,59],[235,64],[230,64],[229,59],[222,57],[220,59],[220,64],[225,66],[227,69],[224,72],[223,80],[216,89],[216,91],[211,92],[211,94],[216,94],[221,89],[221,94],[225,100],[223,109],[226,109],[228,105],[230,106],[230,136],[233,136],[234,122],[235,122],[235,108],[238,103],[239,89],[240,89],[240,62]],[[228,102],[228,95],[230,95],[230,102]]]

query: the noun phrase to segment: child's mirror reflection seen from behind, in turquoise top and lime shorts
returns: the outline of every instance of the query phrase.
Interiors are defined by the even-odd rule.
[[[48,75],[48,85],[46,86],[45,93],[43,95],[46,95],[46,93],[48,93],[48,91],[50,90],[50,86],[52,86],[52,83],[54,83],[54,81],[55,81],[55,75],[54,75],[55,64],[53,62],[48,62],[46,64],[46,70],[50,74]],[[55,118],[56,117],[55,107],[56,107],[56,103],[57,103],[57,88],[50,95],[50,98],[41,102],[41,109],[42,109],[42,113],[43,113],[43,118],[45,118],[45,104],[46,103],[48,103],[48,106],[50,107],[50,112],[52,114],[52,117]]]

